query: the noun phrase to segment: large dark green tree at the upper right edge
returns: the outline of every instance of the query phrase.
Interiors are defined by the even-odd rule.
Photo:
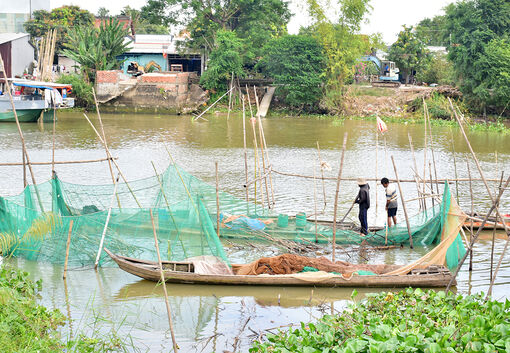
[[[508,102],[510,3],[453,3],[446,7],[446,19],[452,41],[449,59],[460,89],[471,107],[499,114]]]

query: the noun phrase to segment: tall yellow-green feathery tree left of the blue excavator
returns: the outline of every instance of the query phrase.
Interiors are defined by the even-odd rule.
[[[327,60],[326,92],[323,105],[331,112],[341,112],[344,85],[352,80],[354,65],[363,55],[380,42],[377,36],[359,34],[361,23],[371,7],[369,0],[338,0],[338,18],[328,18],[329,6],[317,0],[307,0],[308,12],[314,24],[309,33],[322,44]]]

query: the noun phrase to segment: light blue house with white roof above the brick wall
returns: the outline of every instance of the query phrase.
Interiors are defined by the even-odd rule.
[[[202,73],[203,56],[198,53],[182,54],[178,50],[184,37],[166,34],[136,34],[126,37],[129,41],[129,51],[119,56],[124,60],[122,70],[127,73],[131,62],[143,66],[146,72],[150,71],[183,71]]]

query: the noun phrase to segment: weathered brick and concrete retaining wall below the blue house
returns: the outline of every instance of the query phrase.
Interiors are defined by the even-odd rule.
[[[158,72],[130,77],[122,70],[98,71],[96,94],[104,110],[187,113],[207,101],[191,83],[193,72]]]

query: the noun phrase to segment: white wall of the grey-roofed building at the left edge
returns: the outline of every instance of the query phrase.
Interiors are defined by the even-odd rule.
[[[8,77],[21,77],[34,61],[34,47],[26,33],[0,33],[0,54]]]

